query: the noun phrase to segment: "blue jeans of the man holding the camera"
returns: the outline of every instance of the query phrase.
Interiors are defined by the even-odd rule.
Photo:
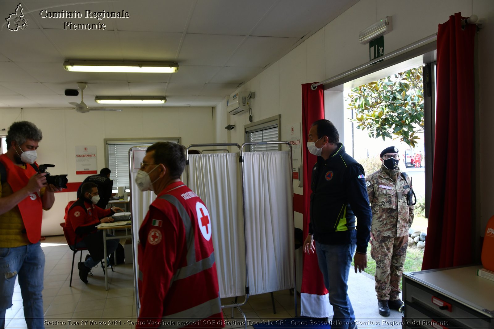
[[[19,276],[24,318],[28,328],[44,328],[44,253],[41,244],[0,248],[0,328],[5,327],[5,311],[12,307],[15,278]]]

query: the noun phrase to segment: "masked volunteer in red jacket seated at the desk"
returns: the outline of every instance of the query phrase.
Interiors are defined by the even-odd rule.
[[[119,244],[118,240],[106,241],[106,255],[103,249],[103,231],[97,230],[99,223],[109,223],[113,218],[109,217],[116,211],[124,211],[122,208],[112,207],[101,209],[96,206],[99,201],[98,186],[95,183],[83,183],[81,196],[69,208],[65,226],[76,235],[76,247],[87,248],[90,257],[79,262],[79,277],[82,282],[87,283],[87,274],[104,257],[113,253]],[[107,234],[107,236],[114,236]]]

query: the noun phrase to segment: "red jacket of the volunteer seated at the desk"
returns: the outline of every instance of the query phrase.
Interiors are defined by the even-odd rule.
[[[81,226],[95,226],[99,224],[99,219],[108,217],[114,214],[111,209],[101,209],[90,202],[86,202],[83,199],[78,199],[69,208],[67,219],[65,220],[65,227],[68,228],[70,235],[70,243],[75,244],[76,230]],[[83,234],[85,236],[87,234]],[[79,237],[80,240],[81,236]]]

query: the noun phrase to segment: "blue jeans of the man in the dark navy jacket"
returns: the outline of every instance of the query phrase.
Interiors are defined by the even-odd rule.
[[[347,294],[348,273],[355,248],[355,244],[325,245],[316,241],[319,268],[329,292],[329,303],[333,306],[331,328],[356,328],[355,314]]]

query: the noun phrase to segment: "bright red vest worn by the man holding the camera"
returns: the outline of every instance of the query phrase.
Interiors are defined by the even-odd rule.
[[[29,179],[37,174],[33,166],[26,165],[26,169],[21,168],[15,165],[6,154],[0,155],[0,161],[5,166],[7,183],[14,193],[26,186]],[[29,194],[17,204],[17,207],[19,207],[29,242],[37,243],[41,237],[41,217],[43,214],[40,192]]]

